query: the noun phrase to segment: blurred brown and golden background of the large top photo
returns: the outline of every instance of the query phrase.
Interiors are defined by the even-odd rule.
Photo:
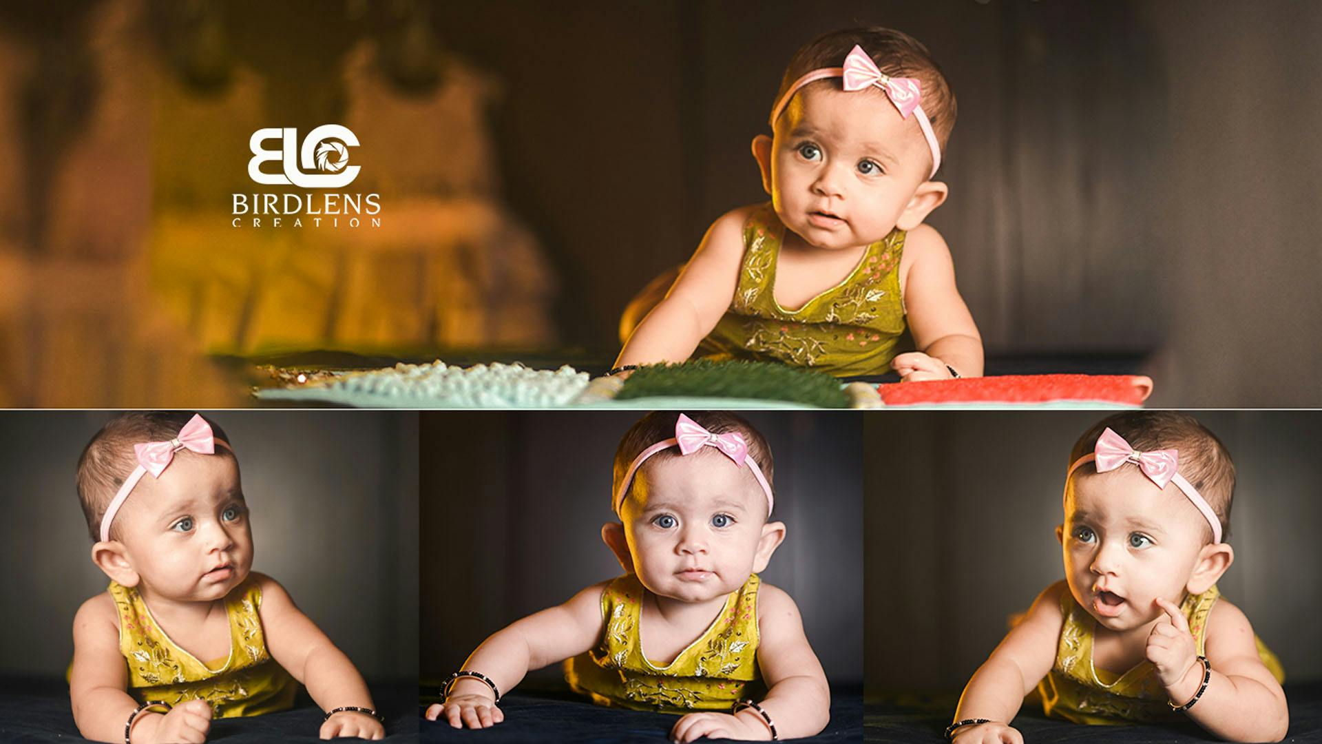
[[[147,254],[212,256],[188,281],[214,286],[173,297],[167,315],[190,318],[185,334],[213,352],[280,339],[360,352],[375,339],[389,352],[379,346],[412,339],[407,353],[463,356],[517,338],[553,365],[604,363],[629,297],[686,259],[717,216],[765,199],[748,143],[793,50],[855,24],[924,41],[958,97],[940,173],[951,200],[931,222],[992,371],[1118,363],[1155,377],[1155,405],[1322,400],[1310,379],[1322,364],[1315,3],[65,0],[0,12],[12,164],[0,277],[15,290],[0,293],[0,356],[13,365],[0,401],[235,397],[181,339],[126,361],[139,323],[122,306],[145,298],[97,289],[136,286],[124,277]],[[389,52],[398,98],[375,116],[348,81],[369,46]],[[399,101],[436,101],[453,81],[469,97],[455,115],[406,115]],[[393,232],[218,221],[229,192],[253,185],[254,128],[305,131],[349,111]],[[451,245],[475,195],[500,205],[504,226]],[[449,207],[410,212],[423,196]],[[526,253],[497,250],[516,242]],[[416,256],[391,258],[406,244]],[[290,267],[227,258],[241,249]],[[373,252],[373,274],[354,281],[379,294],[325,304],[332,256]],[[455,262],[432,282],[426,261]],[[353,314],[336,319],[344,303]],[[430,319],[403,331],[418,315]],[[319,323],[325,335],[309,336]],[[464,357],[490,359],[490,344]],[[77,359],[107,373],[66,373]],[[141,364],[171,385],[137,391]]]

